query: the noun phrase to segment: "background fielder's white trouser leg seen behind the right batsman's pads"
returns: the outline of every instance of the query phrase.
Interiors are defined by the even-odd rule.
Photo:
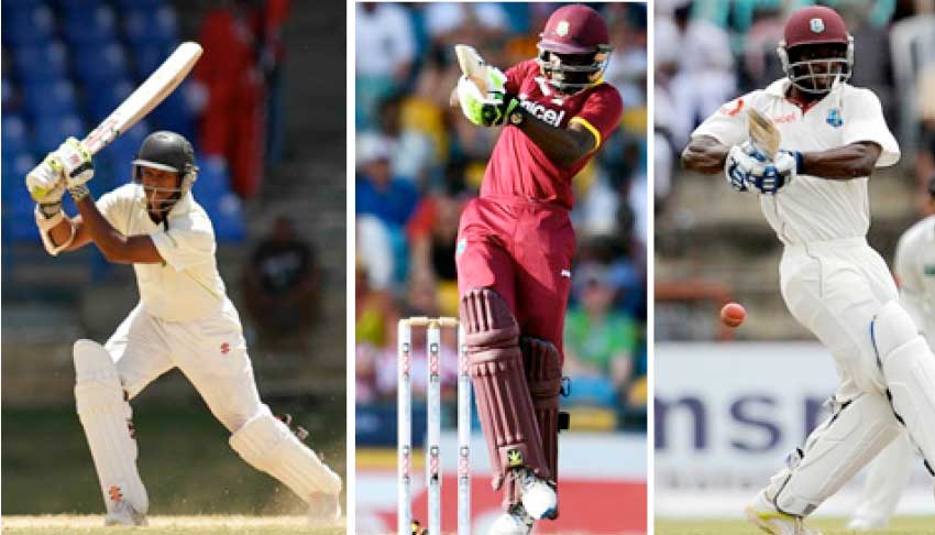
[[[887,446],[868,468],[862,498],[847,528],[886,528],[897,511],[917,459],[916,450],[905,433]]]

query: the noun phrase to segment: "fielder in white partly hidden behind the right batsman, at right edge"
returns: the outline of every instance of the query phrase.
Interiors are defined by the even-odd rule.
[[[935,211],[935,176],[928,182],[930,205]],[[935,350],[935,215],[906,230],[897,244],[894,264],[900,283],[900,303]],[[915,448],[903,434],[870,463],[864,496],[848,529],[883,529],[897,511],[916,462]]]

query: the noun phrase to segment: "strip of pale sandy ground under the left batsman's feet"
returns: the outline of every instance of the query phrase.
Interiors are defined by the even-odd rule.
[[[343,522],[312,529],[302,516],[151,516],[145,528],[105,527],[102,515],[3,516],[2,527],[4,535],[344,535]]]

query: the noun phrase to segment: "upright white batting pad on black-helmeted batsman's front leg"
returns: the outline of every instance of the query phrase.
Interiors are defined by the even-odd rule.
[[[91,340],[78,340],[75,359],[75,402],[107,510],[125,501],[138,513],[150,509],[146,488],[136,470],[133,411],[127,402],[110,353]]]

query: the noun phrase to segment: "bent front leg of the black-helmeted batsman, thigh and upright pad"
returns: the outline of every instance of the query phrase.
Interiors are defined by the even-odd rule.
[[[136,307],[106,346],[74,347],[75,402],[107,506],[107,523],[141,524],[150,500],[136,469],[129,400],[172,369],[151,319]]]

